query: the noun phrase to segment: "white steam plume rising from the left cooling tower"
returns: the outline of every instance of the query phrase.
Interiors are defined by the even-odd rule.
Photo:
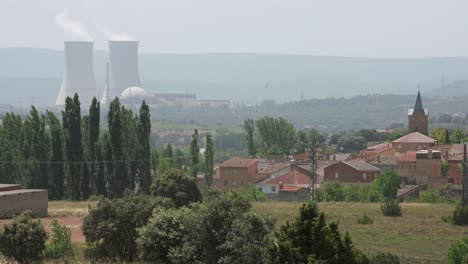
[[[93,41],[93,37],[86,30],[86,27],[71,19],[66,8],[55,16],[55,23],[62,28],[66,40]]]

